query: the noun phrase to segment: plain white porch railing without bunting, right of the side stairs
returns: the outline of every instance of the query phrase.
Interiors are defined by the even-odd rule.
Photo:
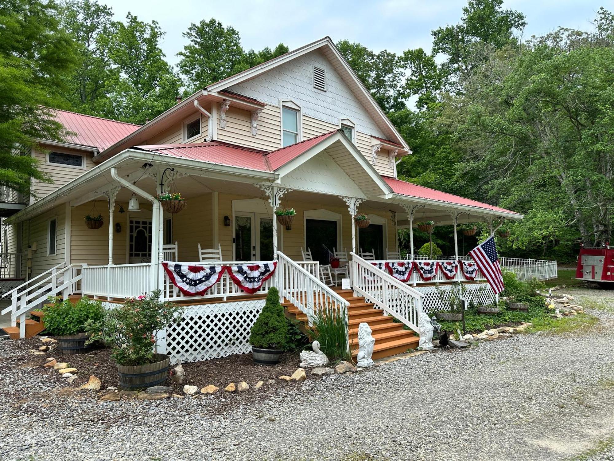
[[[88,296],[135,297],[151,291],[152,264],[111,264],[82,269],[82,292]]]

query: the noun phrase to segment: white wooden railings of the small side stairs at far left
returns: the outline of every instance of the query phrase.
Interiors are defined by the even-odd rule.
[[[26,335],[26,315],[31,310],[37,309],[49,296],[61,294],[67,297],[77,291],[77,286],[82,278],[81,265],[70,264],[60,267],[63,264],[45,270],[40,275],[22,283],[4,296],[11,295],[11,304],[2,310],[2,315],[10,312],[10,325],[17,325],[19,318],[19,337]],[[35,283],[36,282],[36,283]]]

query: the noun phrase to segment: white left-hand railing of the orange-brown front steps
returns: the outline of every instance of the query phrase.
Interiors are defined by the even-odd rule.
[[[276,271],[276,285],[279,297],[285,297],[303,312],[312,323],[316,308],[326,310],[341,309],[348,315],[349,301],[343,299],[330,287],[324,285],[317,276],[288,258],[281,251],[277,252],[278,263]]]

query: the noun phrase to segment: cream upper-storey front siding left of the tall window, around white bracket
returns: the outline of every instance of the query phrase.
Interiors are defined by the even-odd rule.
[[[276,106],[265,106],[257,120],[257,134],[252,136],[251,112],[234,108],[226,112],[226,128],[217,117],[217,139],[264,151],[281,148],[281,116]]]

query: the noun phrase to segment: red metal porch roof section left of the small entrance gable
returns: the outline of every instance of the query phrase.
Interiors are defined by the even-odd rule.
[[[220,141],[193,144],[157,144],[136,146],[136,149],[157,152],[166,156],[201,160],[232,167],[251,168],[252,170],[271,171],[267,165],[265,151],[242,148]]]

